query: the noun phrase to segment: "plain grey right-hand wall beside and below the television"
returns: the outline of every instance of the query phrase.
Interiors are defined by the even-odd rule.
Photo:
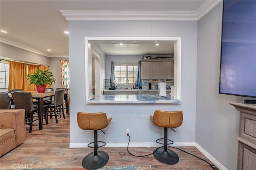
[[[239,112],[229,105],[244,97],[218,94],[220,73],[222,3],[198,22],[196,142],[235,170]]]

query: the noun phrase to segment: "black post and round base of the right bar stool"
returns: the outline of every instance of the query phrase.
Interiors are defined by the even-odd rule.
[[[179,156],[167,148],[167,128],[164,128],[164,147],[156,148],[153,155],[163,164],[173,165],[179,162]]]

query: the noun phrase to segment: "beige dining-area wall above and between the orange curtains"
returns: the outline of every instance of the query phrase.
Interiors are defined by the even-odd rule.
[[[0,43],[0,56],[4,59],[10,59],[13,61],[21,61],[25,63],[31,64],[41,64],[48,65],[49,71],[52,72],[54,77],[56,78],[56,83],[52,84],[52,88],[60,87],[60,59],[68,59],[68,58],[49,58],[44,55],[40,55],[37,53],[33,53],[31,51],[27,51],[18,47],[14,47],[12,45],[8,45],[5,43]]]

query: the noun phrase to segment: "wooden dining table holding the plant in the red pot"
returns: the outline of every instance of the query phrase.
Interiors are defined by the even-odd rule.
[[[37,93],[36,91],[31,92],[32,98],[38,100],[38,123],[39,130],[43,129],[43,115],[44,115],[44,98],[51,97],[55,95],[55,91],[46,91],[44,93]],[[9,97],[12,98],[12,95],[9,94]],[[64,100],[66,104],[66,112],[69,115],[69,99],[68,99],[68,91],[65,91]]]

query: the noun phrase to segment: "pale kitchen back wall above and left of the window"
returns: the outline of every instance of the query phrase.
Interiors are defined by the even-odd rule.
[[[114,63],[138,63],[143,55],[107,55],[106,56],[106,79],[110,79],[111,61]]]

